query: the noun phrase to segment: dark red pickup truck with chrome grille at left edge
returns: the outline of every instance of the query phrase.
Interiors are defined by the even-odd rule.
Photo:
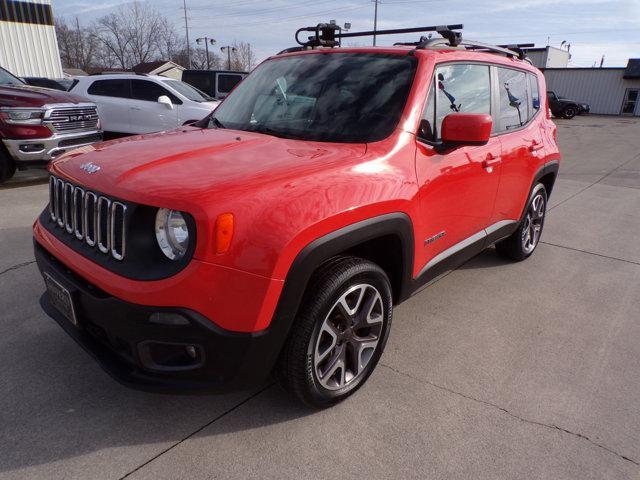
[[[77,95],[32,87],[0,68],[0,184],[102,140],[97,107]]]

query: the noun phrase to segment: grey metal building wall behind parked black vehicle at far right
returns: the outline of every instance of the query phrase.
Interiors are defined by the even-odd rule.
[[[591,113],[620,115],[627,88],[640,88],[640,80],[625,80],[624,68],[546,69],[547,90],[591,106]]]

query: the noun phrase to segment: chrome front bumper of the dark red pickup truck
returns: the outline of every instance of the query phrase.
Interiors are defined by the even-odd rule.
[[[9,155],[18,163],[49,162],[55,157],[78,147],[85,147],[102,141],[100,130],[74,133],[54,133],[48,138],[3,140]]]

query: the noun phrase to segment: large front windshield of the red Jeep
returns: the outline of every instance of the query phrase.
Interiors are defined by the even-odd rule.
[[[413,56],[325,53],[263,63],[209,119],[232,128],[323,142],[388,137],[406,103]]]

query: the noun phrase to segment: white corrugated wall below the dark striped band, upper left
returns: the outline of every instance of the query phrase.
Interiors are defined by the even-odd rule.
[[[24,1],[51,4],[51,0]],[[55,27],[0,21],[0,66],[18,77],[62,78]]]

